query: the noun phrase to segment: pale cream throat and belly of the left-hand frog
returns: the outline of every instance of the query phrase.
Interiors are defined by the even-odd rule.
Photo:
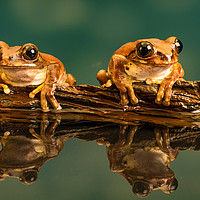
[[[1,70],[1,79],[4,83],[25,87],[28,85],[40,85],[46,80],[47,69],[28,69],[9,67]]]

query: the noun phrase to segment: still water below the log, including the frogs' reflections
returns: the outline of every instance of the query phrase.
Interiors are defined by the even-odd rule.
[[[54,131],[49,127],[55,119],[46,121],[44,129],[44,121],[34,117],[13,123],[14,118],[1,120],[0,127],[0,184],[5,199],[13,195],[15,199],[137,199],[132,193],[136,182],[152,188],[146,199],[198,198],[200,129],[170,128],[171,143],[166,148],[164,132],[160,147],[152,126],[138,126],[133,138],[133,129],[127,126],[120,139],[120,125],[79,121],[78,115],[62,120]],[[123,138],[133,139],[128,148]],[[130,178],[130,184],[120,173]],[[178,188],[165,194],[174,178]]]

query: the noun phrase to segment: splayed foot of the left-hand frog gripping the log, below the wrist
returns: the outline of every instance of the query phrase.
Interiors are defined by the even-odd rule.
[[[49,111],[49,108],[47,106],[47,99],[55,110],[61,110],[62,107],[59,105],[54,96],[55,88],[56,88],[55,84],[43,83],[40,86],[38,86],[35,90],[33,90],[31,93],[29,93],[29,97],[34,98],[35,95],[40,92],[41,107],[44,112]]]

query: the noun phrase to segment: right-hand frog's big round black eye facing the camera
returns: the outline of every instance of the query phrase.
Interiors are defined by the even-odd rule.
[[[154,54],[154,46],[151,42],[143,41],[136,46],[137,54],[141,58],[148,58]]]

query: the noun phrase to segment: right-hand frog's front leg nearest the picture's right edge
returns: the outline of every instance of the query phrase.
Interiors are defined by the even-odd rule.
[[[169,106],[172,94],[172,86],[179,78],[182,78],[183,76],[184,71],[181,64],[174,64],[172,66],[172,72],[162,81],[155,102],[157,104],[162,103],[165,106]]]

